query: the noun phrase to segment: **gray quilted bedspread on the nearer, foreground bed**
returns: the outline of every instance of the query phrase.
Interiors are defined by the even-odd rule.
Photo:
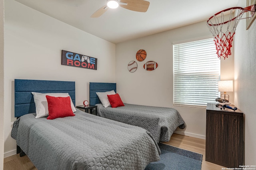
[[[39,170],[144,170],[160,160],[145,129],[80,110],[75,114],[54,120],[23,115],[11,136]]]

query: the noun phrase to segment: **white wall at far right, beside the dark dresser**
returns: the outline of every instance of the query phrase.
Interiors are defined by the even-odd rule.
[[[238,6],[246,7],[245,0]],[[256,163],[256,21],[246,30],[240,20],[234,36],[234,98],[235,105],[245,114],[245,165]]]

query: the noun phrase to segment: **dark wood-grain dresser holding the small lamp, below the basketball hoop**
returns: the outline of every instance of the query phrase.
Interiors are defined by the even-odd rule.
[[[239,168],[239,165],[244,165],[244,113],[221,110],[215,105],[208,103],[206,107],[205,160],[228,168]]]

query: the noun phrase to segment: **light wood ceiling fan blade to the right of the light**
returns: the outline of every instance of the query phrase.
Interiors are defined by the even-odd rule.
[[[146,12],[150,4],[146,0],[121,0],[120,2],[127,3],[127,5],[120,4],[122,8],[137,12]]]

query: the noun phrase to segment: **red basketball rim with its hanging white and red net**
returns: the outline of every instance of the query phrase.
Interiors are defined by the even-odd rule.
[[[238,10],[236,16],[233,18],[234,11]],[[244,14],[244,8],[233,7],[222,10],[207,21],[207,26],[214,36],[214,43],[216,45],[216,54],[218,58],[228,58],[231,55],[231,47],[236,27]]]

